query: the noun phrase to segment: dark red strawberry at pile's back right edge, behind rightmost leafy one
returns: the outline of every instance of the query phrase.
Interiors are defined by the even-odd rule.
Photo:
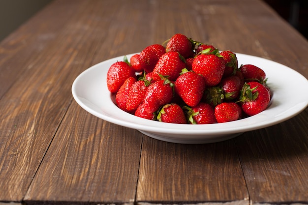
[[[243,73],[244,79],[246,79],[246,82],[249,81],[257,81],[263,83],[266,79],[265,72],[251,64],[241,65],[240,67],[241,72]]]

